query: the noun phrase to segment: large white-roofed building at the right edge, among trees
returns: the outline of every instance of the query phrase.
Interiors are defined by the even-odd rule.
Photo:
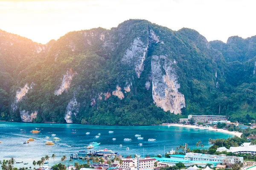
[[[245,142],[241,144],[239,147],[230,147],[230,149],[227,149],[226,147],[219,147],[217,152],[232,152],[232,153],[240,153],[240,154],[250,154],[250,155],[256,155],[256,145],[251,145],[251,142]]]

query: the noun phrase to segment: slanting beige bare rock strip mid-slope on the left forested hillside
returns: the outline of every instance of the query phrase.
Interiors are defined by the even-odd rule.
[[[66,74],[64,74],[61,82],[61,86],[58,90],[54,92],[55,95],[61,95],[63,91],[67,91],[68,88],[70,88],[70,84],[72,81],[72,78],[76,75],[77,73],[73,71],[71,68],[67,71]]]

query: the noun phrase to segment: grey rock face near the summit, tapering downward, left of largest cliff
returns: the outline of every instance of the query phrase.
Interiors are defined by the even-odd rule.
[[[140,38],[137,37],[126,50],[124,57],[122,57],[122,62],[134,64],[138,78],[140,78],[140,74],[144,69],[144,61],[147,50],[148,42],[147,44],[144,44]]]

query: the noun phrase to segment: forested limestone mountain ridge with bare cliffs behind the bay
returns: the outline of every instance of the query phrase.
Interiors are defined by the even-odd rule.
[[[2,120],[152,125],[188,114],[255,119],[255,37],[208,42],[195,30],[172,31],[146,20],[69,32],[46,45],[0,30],[0,60]]]

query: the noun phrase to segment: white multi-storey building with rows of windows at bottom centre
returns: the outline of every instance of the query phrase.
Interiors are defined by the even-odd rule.
[[[130,156],[126,156],[122,159],[122,164],[118,165],[118,167],[125,170],[138,170],[138,167],[139,170],[154,169],[154,162],[156,161],[155,158],[151,158],[150,156],[146,156],[145,158],[131,158]]]

